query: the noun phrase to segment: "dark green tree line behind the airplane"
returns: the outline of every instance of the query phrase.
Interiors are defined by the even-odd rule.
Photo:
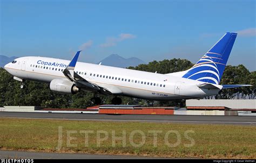
[[[129,69],[157,72],[160,74],[186,70],[193,63],[186,59],[152,61]],[[50,90],[49,84],[26,81],[26,87],[20,88],[21,82],[13,79],[6,70],[0,68],[0,107],[4,105],[35,105],[43,108],[87,108],[93,104],[90,99],[93,93],[80,91],[75,95],[64,95]],[[225,89],[219,95],[206,97],[209,99],[254,99],[256,92],[256,72],[250,72],[245,66],[226,66],[220,84],[252,84],[252,87]],[[113,96],[99,95],[103,104],[111,104]],[[139,104],[150,106],[184,107],[185,101],[150,101],[138,98],[122,97],[123,104]]]

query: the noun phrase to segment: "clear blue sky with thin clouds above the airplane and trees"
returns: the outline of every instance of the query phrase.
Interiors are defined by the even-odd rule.
[[[238,32],[228,65],[256,70],[255,1],[0,0],[0,54],[98,62],[110,54],[146,62],[197,62]]]

